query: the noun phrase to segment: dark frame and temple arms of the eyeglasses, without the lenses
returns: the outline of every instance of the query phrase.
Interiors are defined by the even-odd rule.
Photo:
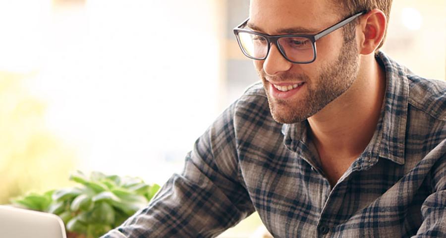
[[[356,19],[357,17],[359,17],[360,15],[363,15],[367,13],[366,10],[358,12],[350,17],[345,18],[344,20],[322,30],[321,32],[314,34],[314,35],[308,35],[308,34],[287,34],[287,35],[268,35],[268,34],[264,34],[264,33],[260,33],[260,32],[256,32],[256,31],[251,31],[251,30],[246,30],[243,29],[244,27],[246,27],[246,25],[248,24],[248,19],[246,19],[243,23],[241,23],[240,25],[238,25],[237,27],[235,27],[233,29],[234,34],[235,34],[235,38],[237,39],[238,42],[238,46],[240,47],[241,51],[243,52],[243,54],[253,60],[265,60],[268,55],[270,54],[270,49],[271,49],[271,43],[273,43],[277,49],[279,49],[280,55],[283,56],[283,58],[285,58],[286,60],[292,62],[292,63],[311,63],[314,62],[314,60],[316,60],[316,41],[321,39],[322,37],[334,32],[335,30],[345,26],[346,24],[350,23],[351,21],[353,21],[354,19]],[[268,42],[268,51],[265,57],[263,58],[254,58],[248,55],[247,52],[245,52],[245,50],[243,49],[242,43],[240,42],[240,38],[238,36],[238,33],[240,32],[246,32],[246,33],[250,33],[250,34],[254,34],[254,35],[259,35],[264,37],[267,42]],[[285,53],[283,52],[283,49],[280,47],[280,45],[278,44],[278,40],[280,38],[283,37],[302,37],[302,38],[307,38],[310,40],[311,44],[313,44],[313,59],[309,60],[309,61],[303,61],[303,62],[297,62],[297,61],[293,61],[288,59],[288,57],[286,57]]]

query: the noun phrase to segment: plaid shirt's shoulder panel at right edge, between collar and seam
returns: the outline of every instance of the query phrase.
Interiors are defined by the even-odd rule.
[[[446,121],[446,81],[408,74],[409,104],[416,109]]]

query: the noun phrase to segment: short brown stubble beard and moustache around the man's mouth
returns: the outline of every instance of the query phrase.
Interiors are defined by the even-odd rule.
[[[265,71],[263,69],[259,71],[273,119],[286,124],[301,122],[321,111],[347,91],[355,81],[359,69],[359,57],[356,49],[355,40],[344,41],[337,60],[321,67],[322,73],[318,77],[318,85],[314,85],[315,82],[304,74],[283,74],[275,80],[276,82],[304,81],[307,97],[299,101],[290,102],[273,98],[269,94],[268,85],[270,83],[266,80]]]

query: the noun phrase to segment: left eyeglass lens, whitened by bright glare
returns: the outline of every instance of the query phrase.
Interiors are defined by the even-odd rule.
[[[264,59],[268,53],[268,41],[265,37],[246,32],[239,32],[238,38],[245,54],[254,59]]]

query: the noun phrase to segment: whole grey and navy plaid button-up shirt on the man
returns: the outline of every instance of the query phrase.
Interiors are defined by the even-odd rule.
[[[276,238],[446,237],[446,83],[377,60],[381,118],[333,188],[308,122],[276,122],[257,83],[196,141],[183,173],[105,237],[215,237],[254,211]]]

